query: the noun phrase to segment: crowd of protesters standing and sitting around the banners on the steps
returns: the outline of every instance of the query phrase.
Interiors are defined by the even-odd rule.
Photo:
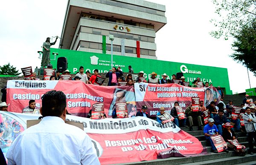
[[[52,65],[47,65],[47,68],[52,68]],[[54,76],[51,76],[49,80],[62,80],[61,75],[68,75],[70,74],[69,70],[63,71],[62,73],[60,71],[55,71]],[[134,83],[153,83],[153,84],[169,84],[169,83],[177,83],[184,86],[189,86],[188,82],[185,82],[186,78],[184,76],[176,77],[177,75],[173,74],[171,79],[168,79],[168,75],[166,73],[162,74],[162,79],[157,78],[157,73],[152,72],[150,76],[148,77],[148,80],[146,77],[144,77],[144,72],[140,71],[138,75],[134,78],[134,70],[131,67],[131,65],[128,66],[128,74],[126,77],[124,77],[124,74],[122,72],[122,69],[120,67],[116,68],[113,67],[111,70],[108,71],[108,73],[105,74],[106,78],[108,79],[108,86],[116,86],[116,85],[134,85]],[[94,69],[93,75],[90,74],[90,71],[86,71],[84,73],[84,67],[80,66],[79,72],[76,73],[75,77],[73,77],[73,80],[79,80],[86,84],[96,84],[97,78],[100,77],[99,70]],[[36,73],[33,73],[32,80],[40,80],[37,78]],[[209,84],[208,82],[201,82],[200,77],[198,77],[196,80],[193,81],[191,87],[193,88],[209,88],[209,86],[212,86],[212,84]],[[177,115],[177,108],[179,107],[179,102],[174,103],[174,107],[172,107],[170,111],[170,115],[173,117],[172,122],[175,123],[178,127],[189,127],[189,131],[194,131],[193,126],[198,127],[198,131],[204,131],[205,139],[209,142],[209,144],[212,147],[212,151],[214,153],[217,153],[217,149],[213,145],[211,136],[215,135],[222,135],[224,140],[228,142],[227,140],[233,140],[236,139],[235,132],[244,132],[246,131],[248,134],[248,142],[249,142],[249,154],[253,154],[253,139],[256,142],[256,117],[254,115],[255,112],[255,102],[252,102],[252,100],[249,99],[249,95],[245,95],[245,98],[242,100],[242,103],[240,107],[242,108],[242,111],[244,111],[244,115],[239,115],[236,119],[232,119],[232,110],[233,110],[233,101],[230,100],[227,104],[224,103],[224,92],[221,89],[220,86],[217,87],[218,94],[220,95],[220,100],[218,100],[218,104],[216,104],[215,101],[208,101],[204,103],[203,100],[200,100],[200,104],[198,105],[198,111],[193,111],[192,104],[186,107],[186,110],[183,110],[183,113],[185,114],[185,118],[181,119]],[[2,102],[0,103],[0,111],[8,111],[8,106],[6,104],[6,87],[1,89],[1,92],[3,93]],[[209,91],[210,93],[211,91]],[[207,91],[206,91],[207,93]],[[209,94],[210,95],[210,94]],[[22,113],[29,113],[29,114],[39,114],[39,108],[37,108],[35,105],[35,100],[30,100],[29,105],[23,108]],[[149,117],[147,113],[148,107],[146,105],[143,105],[140,111],[135,112],[135,114],[132,117]],[[164,121],[160,118],[161,115],[165,114],[166,108],[159,108],[159,112],[157,113],[156,120],[157,122],[164,124]],[[205,124],[204,122],[204,111],[209,110],[209,119],[208,123]],[[116,117],[116,112],[113,111],[112,115],[113,118]],[[67,113],[68,114],[68,113]],[[87,116],[87,118],[92,119],[91,117],[91,110]],[[128,117],[126,115],[125,117]],[[106,118],[106,115],[104,114],[104,117]],[[244,119],[244,126],[241,126],[241,119]],[[188,125],[188,126],[187,126]],[[204,128],[203,128],[204,126]],[[1,130],[0,130],[1,131]],[[229,144],[229,148],[232,145]],[[244,148],[243,148],[244,149]],[[224,150],[228,152],[228,150]]]

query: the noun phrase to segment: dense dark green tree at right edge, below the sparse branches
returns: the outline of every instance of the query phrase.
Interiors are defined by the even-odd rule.
[[[233,60],[242,63],[256,76],[256,20],[250,26],[244,26],[233,42]]]

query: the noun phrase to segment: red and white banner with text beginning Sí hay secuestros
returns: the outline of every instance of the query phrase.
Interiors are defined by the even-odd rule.
[[[140,109],[146,105],[149,117],[155,117],[161,107],[164,107],[167,112],[171,111],[175,102],[186,109],[191,105],[192,97],[199,97],[204,101],[205,95],[205,88],[191,88],[175,83],[158,85],[134,83],[134,90],[137,108]]]

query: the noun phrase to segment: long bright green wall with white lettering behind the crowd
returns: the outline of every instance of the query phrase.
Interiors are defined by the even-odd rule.
[[[58,57],[67,57],[68,69],[71,73],[76,73],[77,71],[79,71],[79,67],[81,65],[84,66],[85,70],[89,69],[91,73],[93,72],[93,69],[99,69],[100,73],[108,72],[108,70],[111,69],[110,54],[51,48],[51,54],[53,52],[58,53],[56,60],[51,61],[53,68],[57,68]],[[93,56],[96,56],[96,59],[99,58],[98,60],[96,60],[97,64],[91,63],[90,57]],[[54,59],[54,57],[51,57],[51,59]],[[212,83],[215,87],[220,85],[222,88],[224,88],[224,92],[226,94],[232,94],[232,91],[230,90],[227,68],[217,68],[187,63],[175,63],[169,61],[151,60],[118,55],[113,55],[113,64],[116,67],[121,66],[121,69],[124,72],[128,72],[128,65],[131,65],[135,73],[144,71],[144,73],[147,74],[146,77],[148,77],[148,75],[154,71],[158,74],[158,78],[160,79],[162,78],[161,75],[163,73],[166,73],[167,75],[169,75],[169,77],[171,77],[172,74],[176,74],[177,72],[181,72],[182,70],[183,72],[186,72],[183,73],[184,77],[186,77],[185,81],[189,81],[190,84],[197,77],[200,77],[201,81]],[[183,67],[181,67],[182,65]],[[188,71],[186,71],[186,68]]]

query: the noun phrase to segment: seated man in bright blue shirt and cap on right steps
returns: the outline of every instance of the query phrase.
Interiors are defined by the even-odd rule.
[[[217,148],[214,146],[211,137],[218,135],[218,128],[214,124],[214,119],[209,118],[209,123],[204,126],[204,137],[205,139],[211,143],[212,151],[214,153],[218,153]]]

